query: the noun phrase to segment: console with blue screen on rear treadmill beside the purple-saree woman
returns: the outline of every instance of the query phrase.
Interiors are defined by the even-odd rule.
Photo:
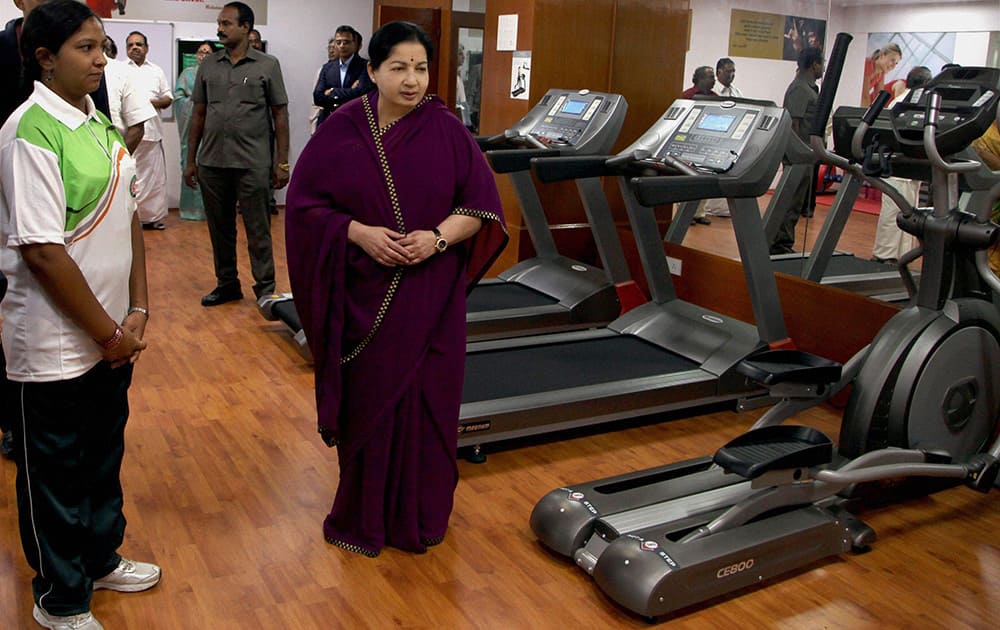
[[[628,109],[619,94],[549,90],[511,129],[563,155],[608,153]]]

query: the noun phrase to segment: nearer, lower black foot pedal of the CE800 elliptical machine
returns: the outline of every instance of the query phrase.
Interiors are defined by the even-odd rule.
[[[715,453],[726,472],[754,479],[772,470],[809,468],[833,459],[833,442],[812,427],[774,426],[748,431]]]

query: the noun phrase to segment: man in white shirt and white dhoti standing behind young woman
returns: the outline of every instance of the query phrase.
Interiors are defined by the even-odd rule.
[[[163,69],[146,60],[149,43],[139,31],[126,40],[128,66],[132,69],[136,91],[146,96],[157,110],[170,107],[173,91]],[[139,221],[145,230],[163,230],[167,217],[167,167],[163,153],[163,123],[159,116],[146,121],[142,141],[133,152],[136,162],[136,187],[139,196]]]

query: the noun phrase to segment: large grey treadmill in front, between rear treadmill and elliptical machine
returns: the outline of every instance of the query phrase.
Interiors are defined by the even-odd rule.
[[[542,181],[617,176],[652,300],[602,329],[469,344],[459,447],[761,395],[734,367],[788,342],[756,197],[790,126],[764,101],[678,100],[616,157],[535,160]],[[677,297],[652,208],[709,197],[732,199],[757,326]]]

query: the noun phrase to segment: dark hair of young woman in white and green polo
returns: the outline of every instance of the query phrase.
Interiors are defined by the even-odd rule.
[[[42,78],[35,51],[45,48],[58,53],[83,23],[90,18],[100,18],[86,4],[77,0],[50,0],[38,5],[24,20],[21,28],[21,59],[24,63],[23,80],[31,86]]]

